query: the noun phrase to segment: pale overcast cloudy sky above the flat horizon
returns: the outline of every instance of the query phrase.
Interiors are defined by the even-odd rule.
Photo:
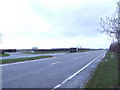
[[[0,48],[108,48],[97,29],[117,0],[0,0]]]

